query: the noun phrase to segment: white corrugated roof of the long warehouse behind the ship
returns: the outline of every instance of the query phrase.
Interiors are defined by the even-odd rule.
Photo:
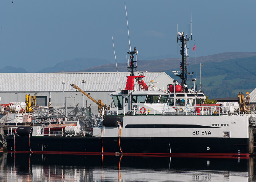
[[[125,88],[129,72],[118,73],[121,88]],[[165,72],[147,72],[144,82],[158,80],[165,75],[166,79],[173,80]],[[4,91],[72,91],[70,84],[83,88],[82,80],[85,80],[86,91],[116,91],[119,90],[117,73],[2,73],[0,74],[0,92]]]

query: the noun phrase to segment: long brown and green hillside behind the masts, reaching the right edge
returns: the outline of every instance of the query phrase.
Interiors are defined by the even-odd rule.
[[[181,58],[138,60],[138,71],[165,71],[173,79],[172,71],[179,71]],[[200,63],[202,91],[209,98],[236,97],[239,92],[251,92],[256,88],[256,52],[227,52],[197,58],[189,57],[189,70],[194,72],[196,84],[200,84]],[[126,72],[126,64],[118,63],[118,71]],[[99,65],[79,71],[69,72],[116,72],[115,64]],[[188,78],[187,84],[190,84]]]

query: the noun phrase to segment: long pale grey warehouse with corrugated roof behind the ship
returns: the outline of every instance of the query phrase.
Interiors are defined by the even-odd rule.
[[[37,106],[49,107],[83,107],[97,108],[97,105],[83,96],[71,86],[75,84],[96,101],[102,100],[104,104],[111,104],[109,93],[125,89],[129,72],[120,73],[3,73],[0,74],[1,104],[25,101],[25,95],[36,95]],[[165,72],[143,73],[144,82],[153,84],[157,88],[173,83],[173,79]],[[119,78],[119,79],[118,79]],[[84,80],[84,83],[83,81]],[[151,81],[151,83],[150,83]],[[158,83],[156,83],[158,82]],[[139,90],[138,84],[136,89]],[[63,94],[64,93],[64,94]]]

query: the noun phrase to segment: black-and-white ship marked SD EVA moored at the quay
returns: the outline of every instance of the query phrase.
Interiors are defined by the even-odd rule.
[[[125,90],[110,94],[113,104],[101,107],[93,127],[65,120],[19,126],[6,137],[8,152],[248,157],[249,115],[235,102],[204,104],[196,79],[187,84],[189,40],[192,35],[178,33],[182,62],[174,75],[181,83],[174,80],[167,88],[156,88],[153,80],[145,83],[144,72],[136,71],[138,51],[130,48]]]

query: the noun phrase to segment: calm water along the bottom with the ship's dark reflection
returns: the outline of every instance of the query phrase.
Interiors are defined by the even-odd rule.
[[[255,181],[255,158],[0,153],[0,181]]]

